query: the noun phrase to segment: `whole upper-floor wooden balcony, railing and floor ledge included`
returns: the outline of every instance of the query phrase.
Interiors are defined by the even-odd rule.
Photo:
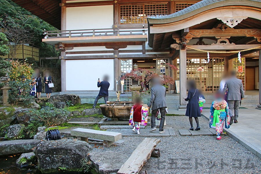
[[[70,43],[97,43],[97,42],[126,42],[147,41],[147,28],[105,28],[86,30],[59,30],[44,31],[43,42],[51,45],[59,42]]]

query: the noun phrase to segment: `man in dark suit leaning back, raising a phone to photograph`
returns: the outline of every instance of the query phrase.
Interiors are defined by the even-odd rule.
[[[110,87],[110,83],[108,82],[108,76],[104,76],[103,81],[98,80],[97,86],[100,88],[100,92],[97,95],[97,97],[94,100],[93,109],[95,109],[97,102],[100,98],[104,98],[105,104],[108,101],[109,98],[109,92],[108,89]]]

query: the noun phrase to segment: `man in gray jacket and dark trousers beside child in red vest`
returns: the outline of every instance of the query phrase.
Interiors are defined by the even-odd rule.
[[[161,114],[161,120],[160,120],[160,130],[159,133],[165,132],[164,122],[165,122],[165,116],[166,116],[166,88],[162,86],[162,80],[160,78],[155,78],[152,81],[153,87],[151,88],[151,99],[150,103],[148,104],[148,108],[151,108],[151,130],[150,131],[156,131],[156,124],[155,124],[155,118],[157,115],[157,111],[160,109]]]

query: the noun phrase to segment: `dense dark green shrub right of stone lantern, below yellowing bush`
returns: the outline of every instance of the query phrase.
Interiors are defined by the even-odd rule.
[[[9,102],[12,104],[18,104],[18,102],[23,102],[25,106],[30,104],[34,96],[30,95],[30,83],[31,80],[24,81],[9,81]]]

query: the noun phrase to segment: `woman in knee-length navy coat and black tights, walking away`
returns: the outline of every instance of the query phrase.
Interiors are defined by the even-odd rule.
[[[189,122],[191,126],[189,130],[191,131],[194,131],[192,117],[195,118],[195,121],[197,123],[197,128],[195,129],[195,131],[197,131],[200,130],[197,117],[201,117],[200,107],[198,104],[199,91],[197,89],[196,82],[194,80],[189,81],[188,86],[189,86],[188,97],[185,98],[185,100],[189,101],[189,103],[187,104],[187,110],[185,115],[189,117]]]

